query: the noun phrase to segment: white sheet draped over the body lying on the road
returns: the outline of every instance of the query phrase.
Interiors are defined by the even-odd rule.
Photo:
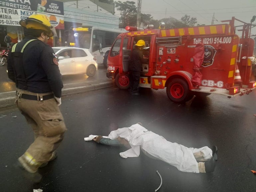
[[[118,136],[126,139],[132,147],[121,152],[121,157],[138,157],[141,147],[152,156],[177,167],[183,172],[199,173],[198,163],[193,153],[201,151],[205,160],[212,157],[212,150],[207,146],[198,149],[171,143],[162,136],[148,131],[139,124],[112,131],[108,137],[110,139],[116,139]]]

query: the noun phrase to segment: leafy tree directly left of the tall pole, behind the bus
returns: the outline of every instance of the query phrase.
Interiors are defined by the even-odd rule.
[[[120,11],[121,17],[119,18],[119,27],[125,28],[132,23],[134,15],[137,14],[137,8],[133,1],[115,1],[116,10]],[[135,20],[136,21],[136,20]]]

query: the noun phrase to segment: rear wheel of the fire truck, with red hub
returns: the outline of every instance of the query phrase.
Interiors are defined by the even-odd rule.
[[[169,99],[176,103],[184,103],[192,98],[187,82],[178,78],[169,82],[166,93]]]

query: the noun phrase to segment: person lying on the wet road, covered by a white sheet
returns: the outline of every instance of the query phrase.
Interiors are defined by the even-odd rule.
[[[217,160],[217,147],[210,149],[186,147],[171,143],[160,135],[145,129],[141,123],[120,128],[108,136],[90,135],[85,141],[94,140],[100,144],[125,146],[128,150],[119,153],[121,157],[138,157],[141,150],[149,157],[163,160],[183,172],[213,172]]]

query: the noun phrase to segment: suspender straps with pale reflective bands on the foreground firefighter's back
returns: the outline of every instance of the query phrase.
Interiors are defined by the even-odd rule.
[[[25,74],[25,71],[24,71],[24,66],[23,66],[23,51],[24,49],[26,48],[26,46],[32,42],[32,41],[36,41],[37,39],[31,39],[29,40],[27,43],[25,43],[25,45],[22,47],[21,49],[21,52],[19,53],[19,57],[22,57],[22,58],[19,58],[19,64],[21,65],[20,69],[22,70],[22,81],[25,82],[25,85],[24,85],[24,89],[27,90],[27,78],[26,78],[26,74]],[[16,46],[17,46],[18,43],[16,43],[13,47],[12,47],[12,52],[15,52],[15,49],[16,49]],[[16,55],[14,53],[14,55]],[[16,86],[18,87],[18,77],[17,77],[17,73],[16,73],[16,69],[15,69],[15,65],[13,65],[13,69],[14,69],[14,76],[15,76],[15,80],[16,80]]]

